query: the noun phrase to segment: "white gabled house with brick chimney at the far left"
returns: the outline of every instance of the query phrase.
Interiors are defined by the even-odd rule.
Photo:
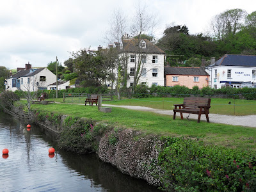
[[[31,65],[29,66],[29,64],[26,64],[25,70],[18,71],[6,80],[5,90],[13,92],[15,90],[23,90],[26,92],[46,90],[47,85],[54,83],[54,81],[56,81],[56,75],[46,67],[31,68]]]

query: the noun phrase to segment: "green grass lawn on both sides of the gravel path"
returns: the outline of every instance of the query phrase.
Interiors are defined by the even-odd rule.
[[[160,106],[159,103],[161,103],[161,99],[158,100],[158,106]],[[145,102],[142,100],[148,101]],[[140,106],[148,106],[147,103],[151,103],[150,100],[154,100],[154,98],[131,100],[131,103],[134,101],[140,104]],[[175,98],[173,99],[173,102],[172,100],[166,100],[166,103],[170,109],[172,104],[182,102],[182,100],[183,99]],[[229,102],[229,100],[227,101]],[[130,101],[122,100],[108,103],[125,105],[125,103],[128,104],[128,102]],[[155,103],[156,102],[157,98],[155,100]],[[141,105],[141,103],[145,105]],[[221,100],[221,103],[223,103],[223,100]],[[213,104],[218,106],[218,99],[214,99]],[[252,102],[252,104],[255,104],[255,102]],[[136,103],[134,103],[134,105],[136,105]],[[152,106],[153,105],[150,104],[151,108]],[[228,105],[226,105],[226,108],[227,106]],[[204,140],[205,143],[209,145],[222,145],[229,148],[256,150],[256,129],[252,127],[213,123],[209,124],[207,122],[200,122],[200,124],[198,124],[196,120],[188,120],[186,118],[184,120],[179,120],[179,118],[177,120],[172,120],[172,118],[167,115],[159,115],[151,112],[134,111],[114,107],[112,108],[111,113],[100,113],[96,106],[92,107],[76,104],[48,104],[46,106],[34,104],[33,108],[40,109],[42,111],[60,113],[63,115],[65,114],[77,117],[92,118],[93,120],[108,122],[109,124],[113,124],[119,127],[128,127],[140,130],[144,132],[144,134],[158,134],[162,136],[188,136],[191,138]],[[250,108],[252,108],[252,106]]]

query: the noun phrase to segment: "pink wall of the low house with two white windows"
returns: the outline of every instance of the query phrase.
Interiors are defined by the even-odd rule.
[[[178,81],[173,81],[173,77],[178,77]],[[194,81],[194,77],[198,77],[198,82]],[[166,75],[166,86],[187,86],[188,88],[193,88],[193,86],[198,86],[202,89],[208,86],[208,81],[206,80],[209,76],[181,76],[181,75]]]

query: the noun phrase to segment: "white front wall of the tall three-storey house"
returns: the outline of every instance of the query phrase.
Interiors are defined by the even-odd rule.
[[[131,54],[128,54],[130,56]],[[157,63],[152,63],[153,56],[157,56]],[[149,87],[152,86],[152,84],[157,84],[159,86],[164,86],[164,54],[147,54],[146,55],[147,62],[143,64],[142,68],[146,68],[146,76],[141,76],[139,79],[138,84],[140,83],[146,83]],[[138,56],[136,57],[136,61],[138,60]],[[130,62],[130,57],[128,59],[127,63],[127,74],[130,75],[131,68],[135,66],[134,63]],[[153,68],[157,69],[157,77],[153,76]],[[140,71],[141,71],[140,70]],[[130,76],[129,79],[127,79],[127,88],[131,86],[131,83],[133,83],[134,77]]]

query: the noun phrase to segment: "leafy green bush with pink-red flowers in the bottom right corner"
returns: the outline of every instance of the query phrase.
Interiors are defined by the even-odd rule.
[[[202,141],[164,138],[158,163],[162,189],[177,191],[255,191],[255,152],[205,146]]]

